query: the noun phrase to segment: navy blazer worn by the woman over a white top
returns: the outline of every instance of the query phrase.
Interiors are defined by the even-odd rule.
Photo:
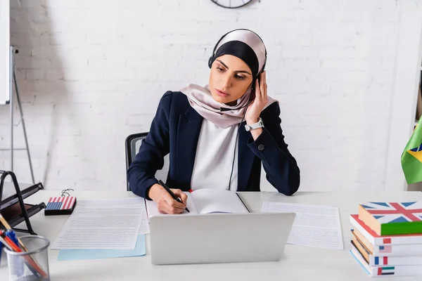
[[[290,154],[281,131],[280,107],[272,103],[262,110],[261,135],[253,140],[245,130],[238,136],[237,191],[260,191],[261,162],[267,180],[284,195],[293,195],[300,184],[300,170]],[[148,200],[148,188],[158,183],[155,172],[162,169],[164,157],[170,153],[170,169],[166,184],[188,191],[196,156],[196,146],[203,117],[188,103],[184,93],[167,91],[160,99],[148,136],[127,171],[134,194]]]

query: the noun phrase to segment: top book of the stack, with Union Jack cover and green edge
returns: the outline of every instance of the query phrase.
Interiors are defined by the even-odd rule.
[[[365,202],[359,219],[378,235],[422,233],[422,202]]]

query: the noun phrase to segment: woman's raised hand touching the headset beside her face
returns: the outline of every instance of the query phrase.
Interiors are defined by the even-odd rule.
[[[258,122],[264,106],[268,103],[267,72],[264,71],[260,74],[260,80],[260,83],[258,82],[258,79],[255,81],[255,99],[248,106],[248,110],[246,110],[246,124],[254,124]]]

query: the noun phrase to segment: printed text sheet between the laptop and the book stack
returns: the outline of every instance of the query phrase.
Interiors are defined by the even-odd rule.
[[[344,249],[338,208],[313,204],[263,202],[261,211],[296,214],[288,244]]]

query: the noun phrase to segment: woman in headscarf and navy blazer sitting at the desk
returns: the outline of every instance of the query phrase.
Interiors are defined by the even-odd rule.
[[[267,180],[293,195],[300,170],[283,141],[279,103],[267,96],[267,51],[250,30],[233,30],[217,42],[208,65],[209,84],[191,84],[162,96],[148,136],[129,166],[136,195],[157,202],[158,211],[180,214],[183,191],[219,188],[260,191],[261,163]],[[170,153],[167,185],[155,178]]]

